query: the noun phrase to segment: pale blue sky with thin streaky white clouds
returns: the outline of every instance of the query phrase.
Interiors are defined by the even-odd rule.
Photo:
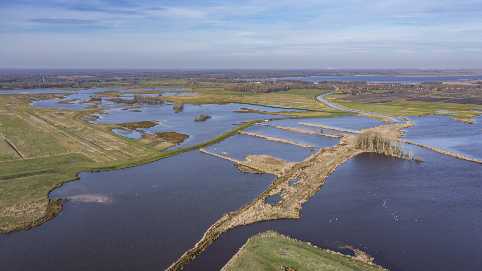
[[[0,68],[482,68],[481,0],[1,0]]]

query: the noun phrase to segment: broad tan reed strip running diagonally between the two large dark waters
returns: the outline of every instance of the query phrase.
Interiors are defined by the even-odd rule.
[[[362,150],[353,148],[353,139],[354,136],[346,136],[342,138],[342,144],[320,149],[304,161],[291,165],[253,202],[242,206],[236,212],[224,214],[204,233],[201,241],[171,265],[167,271],[184,268],[219,235],[229,229],[263,220],[299,218],[301,204],[307,202],[316,191],[320,190],[325,178],[340,164],[362,152]],[[293,177],[300,179],[295,186],[289,184]],[[266,198],[278,193],[281,193],[281,203],[271,205],[265,202]]]

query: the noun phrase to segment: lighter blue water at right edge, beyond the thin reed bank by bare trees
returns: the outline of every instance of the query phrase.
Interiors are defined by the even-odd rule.
[[[405,118],[415,125],[403,129],[403,139],[482,161],[482,115],[471,124],[452,120],[450,116]]]

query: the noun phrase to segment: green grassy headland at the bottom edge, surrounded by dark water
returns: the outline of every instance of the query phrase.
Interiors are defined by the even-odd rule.
[[[268,231],[252,237],[223,271],[280,271],[282,267],[298,271],[385,270]]]

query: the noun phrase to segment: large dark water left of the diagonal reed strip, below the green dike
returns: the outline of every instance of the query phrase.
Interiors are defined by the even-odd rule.
[[[79,176],[51,192],[72,199],[58,217],[0,235],[0,270],[164,270],[276,177],[199,150]]]

